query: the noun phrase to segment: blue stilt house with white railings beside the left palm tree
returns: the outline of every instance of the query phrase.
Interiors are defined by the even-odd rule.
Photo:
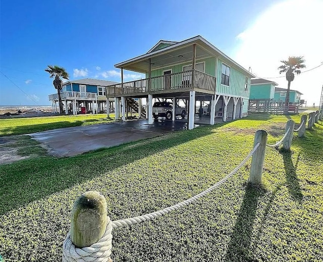
[[[85,113],[92,112],[93,114],[106,110],[105,87],[116,83],[91,78],[69,80],[63,83],[61,97],[65,114],[69,112],[73,115],[79,114],[82,108],[82,113],[85,110]],[[48,99],[52,101],[53,109],[57,112],[58,94],[50,94]]]

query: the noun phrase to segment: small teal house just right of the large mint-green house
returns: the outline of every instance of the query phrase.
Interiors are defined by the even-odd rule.
[[[263,78],[253,78],[251,79],[249,99],[274,99],[275,87],[277,85],[278,84],[276,82],[270,80],[266,80]]]

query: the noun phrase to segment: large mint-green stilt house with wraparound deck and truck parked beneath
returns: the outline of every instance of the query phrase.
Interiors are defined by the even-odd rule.
[[[122,83],[108,86],[107,97],[114,97],[115,104],[121,100],[123,120],[129,98],[139,98],[139,104],[142,98],[147,99],[149,124],[153,123],[153,98],[172,99],[173,104],[184,100],[189,129],[194,127],[196,101],[209,102],[210,124],[216,117],[226,121],[247,116],[250,78],[254,75],[201,36],[180,42],[160,40],[146,54],[115,67],[121,69]],[[123,82],[123,69],[144,73],[146,79]],[[119,114],[116,112],[116,118]]]

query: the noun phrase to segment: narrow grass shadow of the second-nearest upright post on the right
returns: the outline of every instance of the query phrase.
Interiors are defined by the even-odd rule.
[[[288,191],[292,198],[300,203],[303,200],[303,194],[296,174],[296,167],[298,165],[300,154],[297,156],[295,166],[293,164],[292,152],[290,150],[280,149],[280,154],[282,154],[284,160]]]

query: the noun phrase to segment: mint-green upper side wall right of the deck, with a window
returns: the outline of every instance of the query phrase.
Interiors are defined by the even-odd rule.
[[[218,71],[217,72],[217,94],[228,94],[228,95],[234,95],[237,97],[248,98],[250,94],[250,81],[251,81],[250,78],[246,77],[245,74],[235,69],[234,67],[228,65],[230,67],[229,86],[222,85],[221,84],[222,64],[223,62],[219,59],[218,70],[217,70]],[[247,90],[245,90],[246,79],[247,79]]]

